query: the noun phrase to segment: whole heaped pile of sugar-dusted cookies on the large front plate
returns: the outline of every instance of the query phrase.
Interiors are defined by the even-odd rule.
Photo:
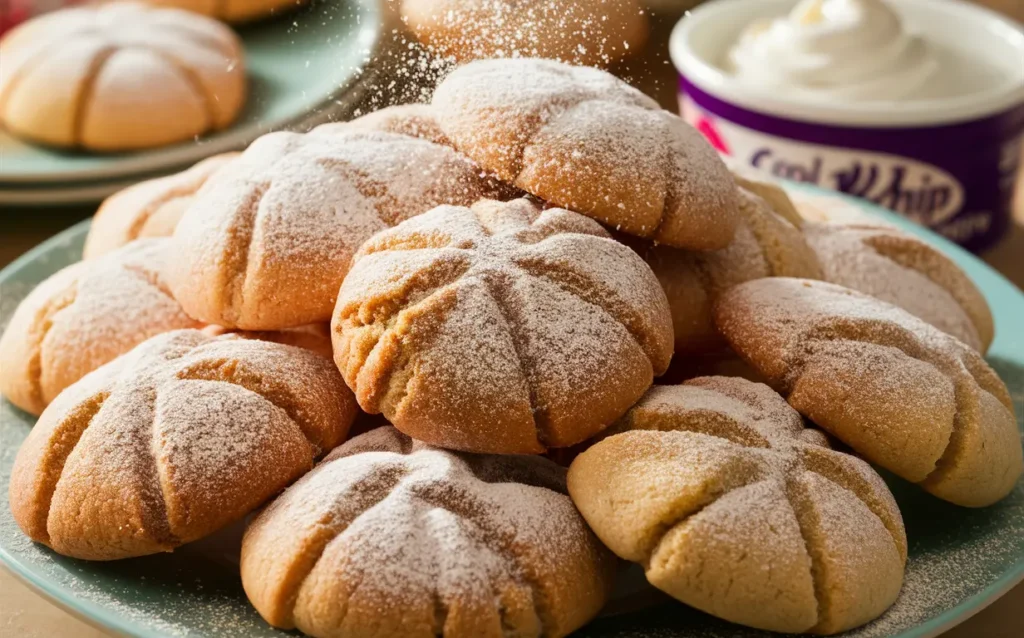
[[[1020,476],[991,340],[928,245],[730,172],[606,73],[475,61],[108,201],[0,339],[40,415],[10,503],[88,560],[252,514],[249,599],[317,637],[564,636],[623,561],[833,634],[902,585],[871,464],[965,507]]]

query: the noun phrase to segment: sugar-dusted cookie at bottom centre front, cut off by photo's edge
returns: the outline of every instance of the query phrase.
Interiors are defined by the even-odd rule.
[[[562,468],[392,427],[332,452],[242,545],[256,609],[315,637],[558,638],[597,614],[614,571]]]

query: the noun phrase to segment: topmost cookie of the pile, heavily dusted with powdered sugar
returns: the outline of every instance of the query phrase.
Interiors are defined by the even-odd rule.
[[[610,74],[543,59],[471,62],[432,103],[455,146],[501,179],[630,235],[725,248],[736,186],[693,128]]]

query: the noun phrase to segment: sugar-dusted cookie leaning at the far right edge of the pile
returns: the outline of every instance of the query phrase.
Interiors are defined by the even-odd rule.
[[[1020,477],[1007,386],[976,350],[905,310],[835,284],[773,278],[722,295],[715,322],[804,416],[933,495],[981,507]]]

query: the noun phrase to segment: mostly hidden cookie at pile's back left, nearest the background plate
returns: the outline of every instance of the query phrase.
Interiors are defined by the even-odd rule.
[[[147,179],[106,198],[92,218],[83,259],[92,259],[129,242],[174,235],[196,193],[237,153],[224,153],[166,177]]]

